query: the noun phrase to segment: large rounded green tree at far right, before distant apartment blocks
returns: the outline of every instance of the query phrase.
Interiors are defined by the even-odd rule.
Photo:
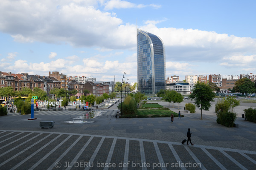
[[[250,79],[242,78],[235,83],[234,89],[235,91],[247,96],[247,94],[255,93],[256,88],[254,82],[252,82]]]

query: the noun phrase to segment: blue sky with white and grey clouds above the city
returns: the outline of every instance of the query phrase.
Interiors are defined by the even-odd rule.
[[[256,73],[255,0],[1,0],[0,71],[137,82],[138,28],[166,76]],[[125,80],[126,81],[126,80]]]

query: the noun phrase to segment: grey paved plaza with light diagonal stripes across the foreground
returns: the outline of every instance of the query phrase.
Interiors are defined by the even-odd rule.
[[[186,102],[179,105],[184,117],[173,123],[170,118],[116,119],[116,105],[81,123],[73,122],[87,111],[35,111],[36,120],[19,113],[1,116],[0,169],[256,169],[256,124],[241,118],[252,104],[236,108],[239,127],[228,128],[216,123],[214,105],[200,120],[198,109],[184,112]],[[157,103],[178,112],[177,105]],[[41,129],[40,121],[55,126]],[[181,143],[188,128],[193,146]]]

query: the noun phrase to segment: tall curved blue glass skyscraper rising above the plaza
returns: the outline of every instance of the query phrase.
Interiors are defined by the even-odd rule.
[[[138,91],[157,94],[166,89],[165,48],[160,37],[137,29]]]

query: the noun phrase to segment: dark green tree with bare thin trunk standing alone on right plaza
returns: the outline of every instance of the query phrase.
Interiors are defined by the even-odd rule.
[[[189,95],[191,99],[195,99],[195,105],[201,110],[201,119],[203,119],[202,110],[209,111],[211,103],[214,100],[215,94],[212,92],[212,89],[209,85],[201,83],[196,83],[195,88],[192,93]]]

